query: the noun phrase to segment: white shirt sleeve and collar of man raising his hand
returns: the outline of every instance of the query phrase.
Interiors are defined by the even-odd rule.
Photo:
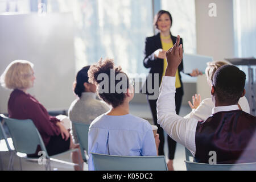
[[[175,111],[175,77],[164,76],[156,104],[159,125],[176,142],[183,144],[195,156],[197,119],[185,119]],[[238,105],[213,107],[212,114],[220,111],[238,110]]]

